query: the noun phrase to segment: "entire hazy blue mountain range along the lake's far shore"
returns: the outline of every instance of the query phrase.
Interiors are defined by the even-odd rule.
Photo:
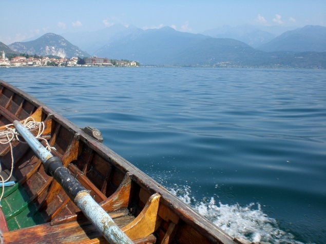
[[[65,57],[85,57],[90,53],[137,60],[144,65],[326,68],[325,30],[322,26],[305,26],[274,38],[274,34],[252,26],[193,34],[170,27],[142,30],[113,25],[94,32],[65,33],[66,39],[48,33],[9,47],[28,54]],[[243,42],[235,38],[242,38]]]

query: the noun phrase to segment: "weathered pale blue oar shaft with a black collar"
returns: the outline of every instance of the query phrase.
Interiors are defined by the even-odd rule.
[[[13,125],[37,157],[42,160],[46,173],[59,182],[70,199],[75,202],[76,206],[78,206],[109,243],[133,243],[116,223],[114,223],[108,213],[90,196],[89,192],[80,182],[69,173],[59,157],[53,157],[19,121],[15,120]]]

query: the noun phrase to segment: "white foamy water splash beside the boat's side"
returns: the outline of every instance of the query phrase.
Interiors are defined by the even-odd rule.
[[[221,202],[216,204],[214,197],[208,201],[197,201],[191,196],[189,186],[174,185],[169,190],[232,237],[273,244],[303,244],[296,241],[293,234],[281,230],[277,221],[262,211],[259,203],[244,207],[239,204],[224,205]]]

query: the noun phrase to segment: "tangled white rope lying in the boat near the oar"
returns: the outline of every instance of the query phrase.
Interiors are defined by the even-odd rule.
[[[55,150],[54,147],[51,147],[48,143],[48,141],[45,139],[45,138],[42,138],[42,134],[44,132],[44,129],[45,129],[45,125],[44,125],[44,122],[37,122],[35,121],[34,118],[32,117],[28,117],[26,118],[24,121],[23,121],[23,126],[27,129],[27,130],[32,130],[34,128],[37,128],[39,127],[39,132],[37,133],[37,135],[35,136],[35,138],[37,139],[40,139],[40,140],[44,140],[45,141],[45,144],[46,144],[46,149],[48,151],[50,150]],[[15,127],[13,124],[9,124],[9,125],[6,125],[6,130],[3,130],[3,131],[0,131],[0,144],[9,144],[10,145],[10,154],[11,154],[11,170],[10,170],[10,175],[8,176],[7,179],[4,179],[1,175],[0,175],[0,178],[1,178],[1,182],[2,182],[2,194],[0,196],[0,202],[1,202],[1,199],[4,195],[4,192],[5,192],[5,182],[7,182],[11,176],[12,176],[12,171],[13,171],[13,163],[14,163],[14,159],[13,159],[13,150],[12,150],[12,141],[15,139],[15,141],[19,141],[20,143],[26,143],[25,141],[22,141],[19,137],[19,133],[16,131]],[[1,161],[0,161],[0,173],[2,171],[2,168],[1,168]],[[1,208],[1,204],[0,204],[0,208]]]

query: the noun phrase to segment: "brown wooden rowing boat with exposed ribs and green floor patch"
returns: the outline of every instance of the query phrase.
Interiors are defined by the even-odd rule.
[[[0,130],[33,117],[42,137],[92,198],[134,243],[235,243],[155,180],[100,141],[23,91],[0,80]],[[37,128],[32,134],[37,134]],[[62,186],[49,176],[29,145],[0,144],[1,175],[13,154],[13,186],[5,187],[0,211],[4,243],[107,243]],[[42,143],[44,144],[44,143]],[[1,184],[0,184],[1,185]],[[1,188],[0,188],[1,192]],[[1,217],[2,216],[2,217]],[[1,242],[0,241],[0,242]]]

